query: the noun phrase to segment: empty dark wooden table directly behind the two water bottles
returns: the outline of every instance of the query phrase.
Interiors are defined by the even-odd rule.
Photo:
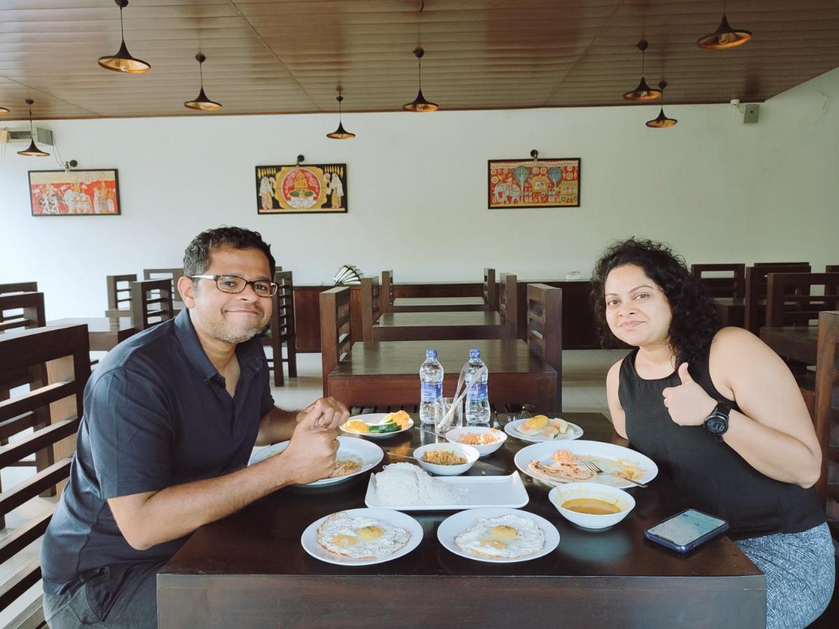
[[[420,365],[425,350],[437,350],[446,376],[443,394],[454,395],[461,367],[472,348],[481,350],[489,371],[489,401],[557,408],[556,370],[518,339],[400,340],[355,343],[327,377],[327,391],[348,406],[414,406],[420,400]]]

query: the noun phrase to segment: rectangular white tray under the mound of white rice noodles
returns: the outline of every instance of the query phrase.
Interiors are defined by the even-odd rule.
[[[370,475],[364,504],[367,507],[397,511],[461,511],[477,507],[524,507],[529,500],[522,477],[514,471],[509,476],[435,476],[438,481],[468,490],[456,505],[381,505],[376,502],[376,479]]]

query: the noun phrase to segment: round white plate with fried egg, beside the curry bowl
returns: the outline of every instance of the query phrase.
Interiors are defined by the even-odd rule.
[[[553,553],[560,543],[560,532],[535,513],[487,507],[447,517],[437,528],[437,539],[466,559],[511,564]]]

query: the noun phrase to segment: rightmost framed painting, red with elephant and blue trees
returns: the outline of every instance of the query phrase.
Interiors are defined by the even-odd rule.
[[[488,207],[580,207],[580,158],[490,159]]]

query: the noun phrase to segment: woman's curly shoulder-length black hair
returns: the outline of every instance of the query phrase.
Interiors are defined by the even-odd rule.
[[[604,284],[613,268],[633,264],[644,270],[663,291],[673,311],[668,331],[675,364],[692,363],[707,356],[711,340],[720,330],[717,310],[702,284],[690,275],[685,258],[661,242],[629,238],[603,252],[591,276],[591,311],[602,346],[614,339],[606,321]]]

